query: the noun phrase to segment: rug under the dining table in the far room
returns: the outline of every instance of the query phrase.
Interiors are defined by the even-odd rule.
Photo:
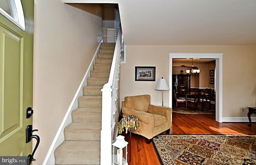
[[[194,110],[194,106],[188,106],[187,110],[184,107],[178,107],[177,110],[173,108],[172,112],[179,114],[215,114],[215,109],[212,108],[211,110],[208,109],[203,111],[201,106],[198,105],[196,111]]]

